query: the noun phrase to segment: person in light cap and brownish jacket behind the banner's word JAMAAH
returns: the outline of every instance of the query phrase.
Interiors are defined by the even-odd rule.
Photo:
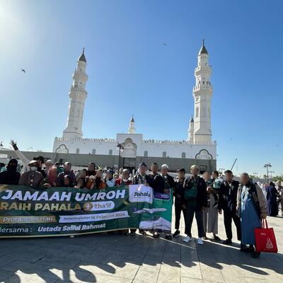
[[[30,163],[28,163],[28,166],[30,170],[27,172],[24,172],[21,175],[18,185],[26,185],[29,187],[39,187],[41,181],[43,180],[42,173],[37,171],[37,168],[40,167],[40,163],[38,163],[38,161],[36,160],[32,160],[30,161]]]

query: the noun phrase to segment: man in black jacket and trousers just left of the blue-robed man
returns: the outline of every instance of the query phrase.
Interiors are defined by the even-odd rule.
[[[223,242],[226,245],[232,243],[232,219],[237,229],[238,241],[241,241],[241,220],[236,215],[237,192],[239,183],[233,180],[233,173],[225,171],[225,182],[220,186],[219,192],[219,214],[224,212],[224,226],[227,239]]]

